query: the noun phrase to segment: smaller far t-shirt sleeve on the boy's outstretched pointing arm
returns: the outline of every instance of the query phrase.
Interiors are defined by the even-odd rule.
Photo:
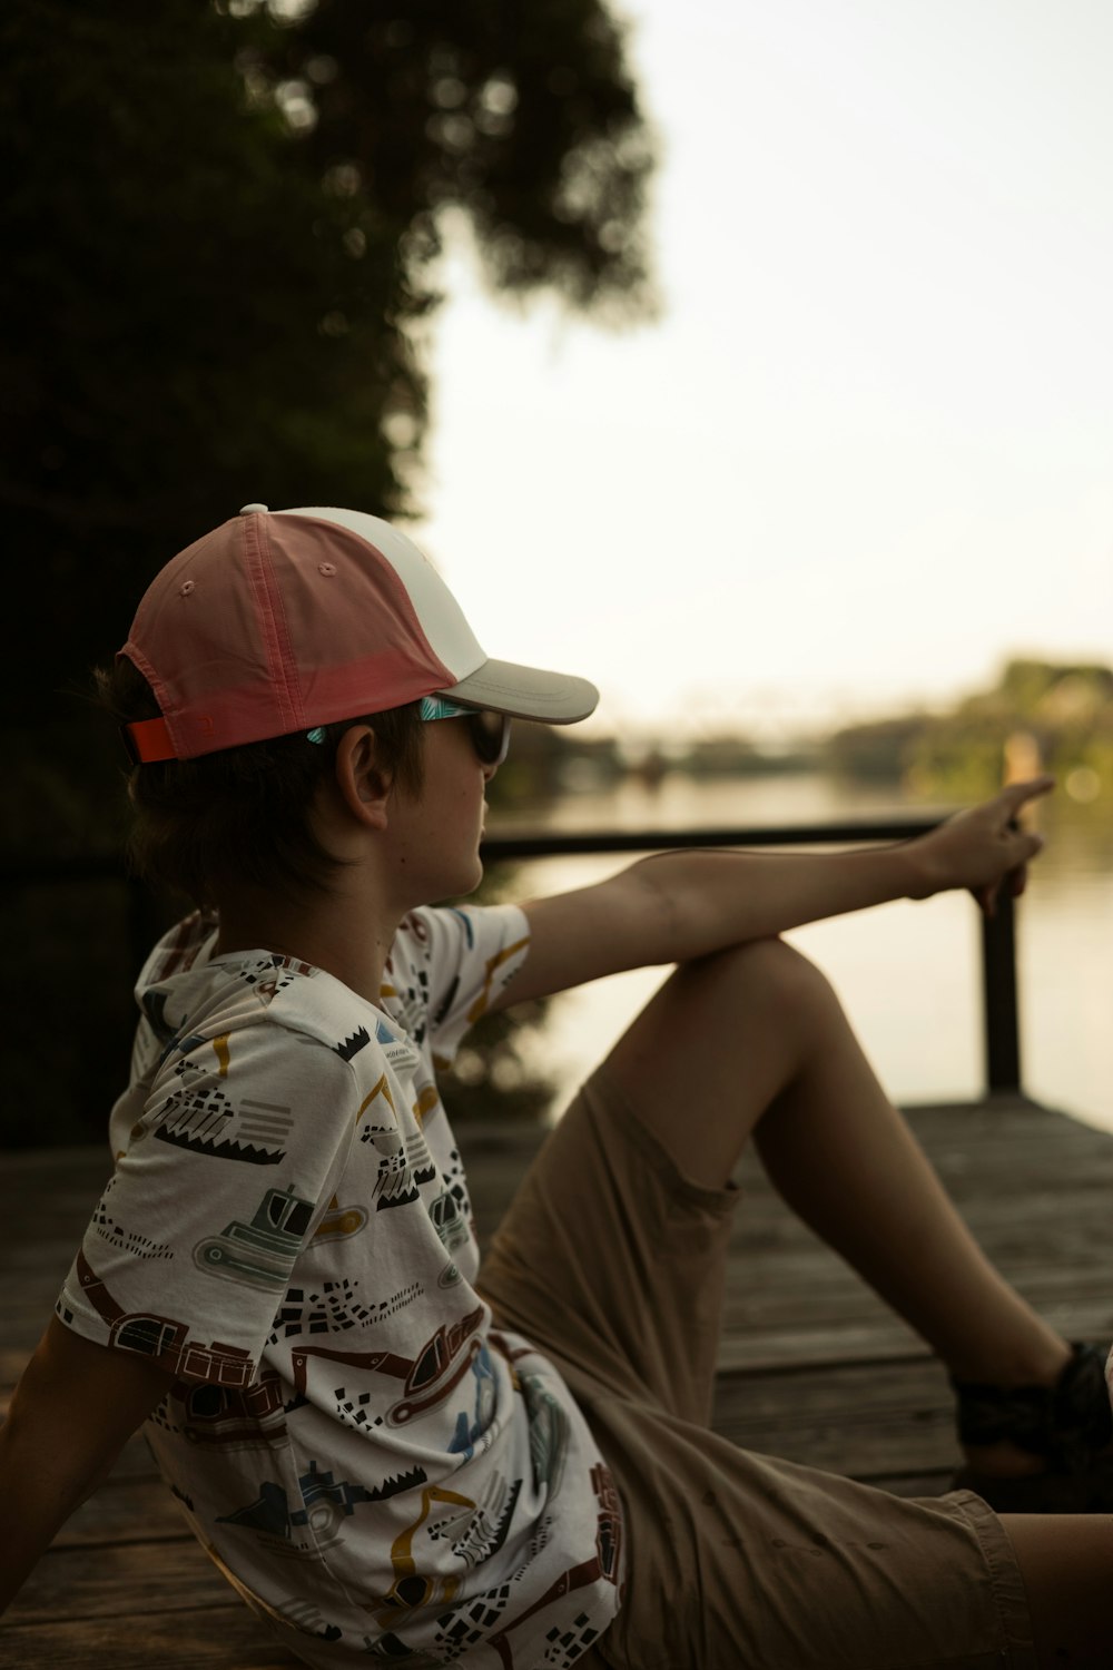
[[[517,905],[417,910],[414,918],[426,939],[429,1045],[447,1065],[524,962],[529,922]]]

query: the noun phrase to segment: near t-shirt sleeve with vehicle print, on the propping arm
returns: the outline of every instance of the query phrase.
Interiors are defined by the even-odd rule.
[[[57,1304],[87,1339],[247,1386],[344,1171],[355,1077],[260,1022],[190,1039],[152,1080]]]

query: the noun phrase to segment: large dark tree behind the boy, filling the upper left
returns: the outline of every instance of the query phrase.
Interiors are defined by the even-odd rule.
[[[0,52],[5,1084],[65,1141],[135,972],[118,883],[28,880],[118,848],[88,668],[245,501],[414,509],[447,210],[497,291],[644,317],[652,154],[602,0],[8,0]]]

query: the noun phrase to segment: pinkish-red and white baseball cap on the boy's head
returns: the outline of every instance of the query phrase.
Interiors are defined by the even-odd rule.
[[[382,713],[421,696],[572,725],[586,678],[481,648],[429,558],[390,523],[245,504],[155,576],[120,650],[162,718],[125,726],[142,762]]]

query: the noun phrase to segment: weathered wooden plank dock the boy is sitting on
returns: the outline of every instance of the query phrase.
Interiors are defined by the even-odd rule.
[[[909,1114],[983,1246],[1071,1339],[1113,1339],[1113,1136],[1023,1099]],[[461,1132],[481,1234],[532,1129]],[[0,1157],[0,1393],[50,1316],[107,1174],[107,1149]],[[739,1445],[901,1495],[948,1488],[946,1376],[923,1344],[773,1196],[743,1201],[716,1428]],[[290,1670],[177,1516],[142,1438],[78,1510],[0,1623],[3,1670]]]

